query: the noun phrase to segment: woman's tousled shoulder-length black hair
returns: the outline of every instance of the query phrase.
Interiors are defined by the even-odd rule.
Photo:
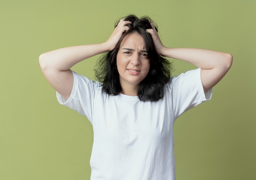
[[[164,97],[165,84],[171,78],[171,62],[157,53],[151,35],[146,32],[146,29],[151,29],[150,22],[153,22],[149,17],[137,18],[137,16],[129,15],[124,20],[132,22],[131,24],[126,24],[130,29],[122,34],[115,49],[99,58],[94,69],[95,76],[102,83],[103,92],[110,95],[118,95],[122,87],[116,66],[117,52],[124,37],[131,33],[138,33],[144,39],[150,60],[150,69],[146,78],[140,82],[137,95],[141,101],[157,101]],[[117,24],[118,22],[115,27]],[[157,29],[156,24],[155,27]]]

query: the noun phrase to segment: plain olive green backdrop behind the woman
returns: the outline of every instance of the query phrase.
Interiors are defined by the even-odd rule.
[[[130,13],[153,18],[168,47],[234,56],[212,100],[175,122],[177,180],[255,180],[255,12],[255,0],[1,0],[0,180],[90,179],[92,126],[58,104],[38,56],[104,42]],[[94,79],[98,57],[72,69]]]

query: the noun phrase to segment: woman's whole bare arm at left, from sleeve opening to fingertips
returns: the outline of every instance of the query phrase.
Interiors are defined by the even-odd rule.
[[[129,29],[125,26],[128,23],[130,22],[120,20],[104,43],[65,47],[41,54],[39,64],[52,87],[65,98],[69,98],[74,83],[70,68],[82,60],[114,49],[122,33]]]

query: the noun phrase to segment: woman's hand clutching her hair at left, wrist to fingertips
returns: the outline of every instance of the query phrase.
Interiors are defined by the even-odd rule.
[[[121,19],[118,22],[117,27],[112,32],[111,36],[106,42],[104,42],[104,44],[108,47],[109,51],[112,51],[116,47],[117,42],[121,38],[122,34],[130,29],[128,26],[126,26],[126,24],[131,24],[131,22]]]

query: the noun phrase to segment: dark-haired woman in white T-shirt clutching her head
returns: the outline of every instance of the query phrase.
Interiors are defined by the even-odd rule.
[[[100,53],[106,54],[96,70],[99,82],[70,70]],[[171,64],[163,57],[198,69],[170,78]],[[92,123],[91,180],[175,180],[175,119],[211,98],[232,56],[165,47],[150,18],[132,15],[106,42],[43,53],[39,62],[58,101]]]

